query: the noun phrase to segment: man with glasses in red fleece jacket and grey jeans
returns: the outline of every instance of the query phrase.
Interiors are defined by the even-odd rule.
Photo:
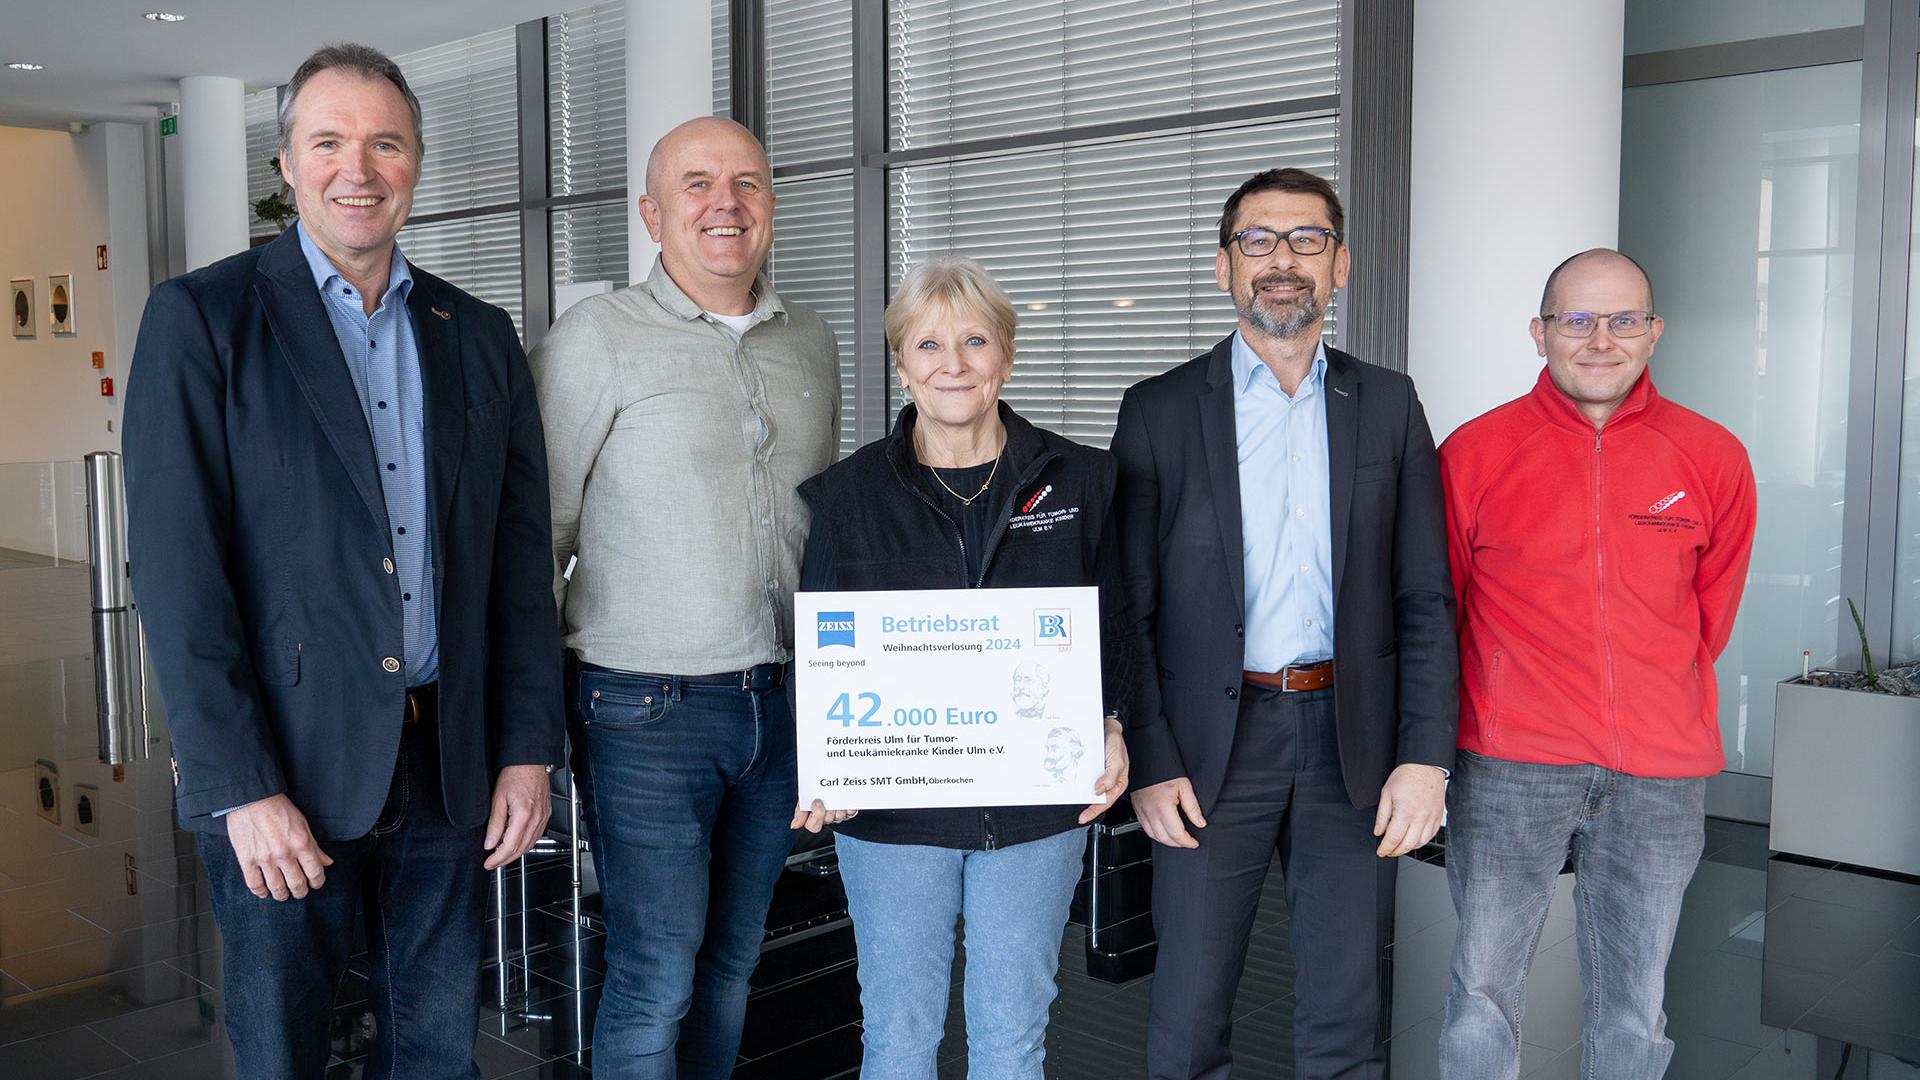
[[[1572,855],[1580,1076],[1655,1080],[1667,955],[1724,765],[1713,661],[1753,548],[1753,469],[1653,390],[1653,284],[1597,248],[1532,321],[1532,392],[1440,448],[1459,600],[1459,913],[1440,1074],[1519,1076],[1523,988]]]

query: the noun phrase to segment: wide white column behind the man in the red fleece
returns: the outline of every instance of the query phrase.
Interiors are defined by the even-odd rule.
[[[1407,373],[1434,438],[1532,386],[1548,271],[1619,236],[1622,29],[1624,0],[1413,6]]]

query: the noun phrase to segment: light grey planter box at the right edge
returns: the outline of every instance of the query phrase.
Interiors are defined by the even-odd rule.
[[[1782,682],[1770,846],[1920,876],[1920,698]]]

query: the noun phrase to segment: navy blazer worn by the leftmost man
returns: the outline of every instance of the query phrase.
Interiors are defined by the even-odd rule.
[[[413,269],[426,398],[440,769],[486,821],[503,765],[559,763],[547,457],[507,313]],[[372,828],[399,746],[401,598],[372,436],[313,273],[278,240],[167,281],[127,380],[132,592],[182,824],[286,792],[323,838]],[[478,851],[474,853],[478,857]]]

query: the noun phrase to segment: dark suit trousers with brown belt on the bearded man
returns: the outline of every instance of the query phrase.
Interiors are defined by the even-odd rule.
[[[1160,961],[1148,1076],[1229,1076],[1233,999],[1279,851],[1296,963],[1296,1074],[1384,1078],[1396,861],[1375,855],[1373,807],[1346,798],[1332,690],[1242,686],[1227,778],[1200,809],[1200,847],[1154,846]]]

